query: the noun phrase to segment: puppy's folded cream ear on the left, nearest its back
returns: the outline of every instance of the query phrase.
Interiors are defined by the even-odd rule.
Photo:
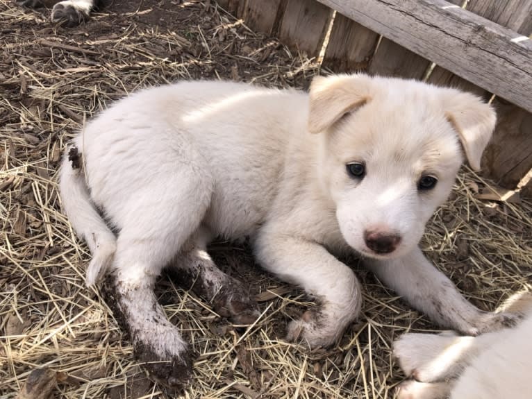
[[[345,114],[353,112],[370,100],[372,79],[363,74],[316,76],[310,84],[308,130],[327,130]]]

